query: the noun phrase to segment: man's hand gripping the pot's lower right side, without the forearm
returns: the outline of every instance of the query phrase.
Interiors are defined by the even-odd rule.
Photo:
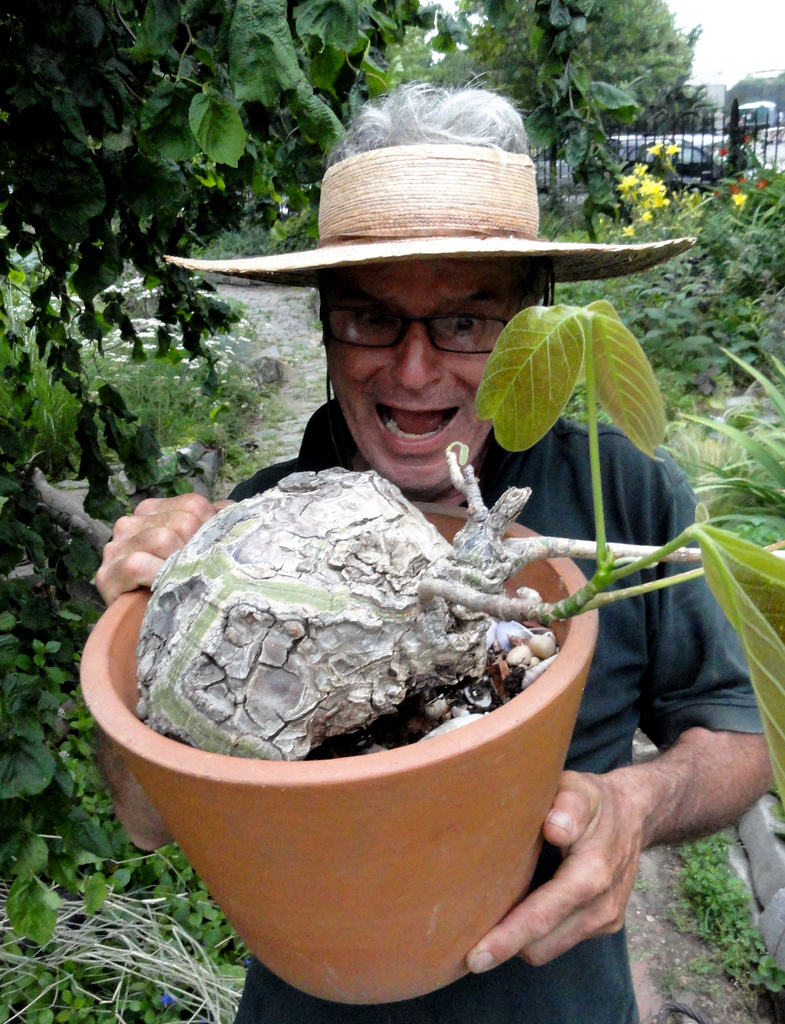
[[[548,842],[562,851],[562,863],[472,950],[472,971],[487,971],[516,953],[546,964],[581,939],[624,924],[643,830],[613,775],[564,772],[542,826]]]

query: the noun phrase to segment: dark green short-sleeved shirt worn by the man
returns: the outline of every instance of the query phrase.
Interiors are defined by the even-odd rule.
[[[309,422],[298,459],[261,470],[234,488],[248,498],[289,473],[348,465],[351,437],[337,407],[332,430],[322,407]],[[640,453],[614,427],[600,427],[603,499],[609,541],[660,545],[693,521],[684,473]],[[509,486],[530,486],[519,521],[538,534],[594,540],[586,431],[560,420],[528,452],[491,439],[480,479],[490,505]],[[591,575],[591,562],[581,564]],[[625,586],[679,571],[658,566]],[[761,732],[735,632],[702,580],[609,605],[566,767],[607,772],[628,764],[638,726],[659,746],[692,726]],[[534,885],[551,878],[559,855],[543,851]],[[492,868],[489,865],[489,870]],[[405,884],[405,880],[403,880]],[[417,954],[417,951],[413,951]],[[623,932],[590,939],[544,967],[514,957],[403,1002],[344,1006],[292,988],[254,961],[236,1024],[633,1024],[638,1021]]]

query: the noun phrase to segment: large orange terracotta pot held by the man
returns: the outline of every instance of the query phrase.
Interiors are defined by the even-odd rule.
[[[429,518],[448,539],[463,521]],[[555,559],[513,587],[554,600],[583,582]],[[559,624],[553,667],[463,729],[364,757],[274,762],[206,754],[136,718],[147,598],[124,595],[95,627],[85,699],[249,948],[290,984],[341,1002],[410,998],[466,974],[466,953],[530,882],[596,613]]]

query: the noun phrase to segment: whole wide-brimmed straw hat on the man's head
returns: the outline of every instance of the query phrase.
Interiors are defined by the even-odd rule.
[[[308,252],[171,263],[281,285],[316,285],[331,267],[438,257],[540,256],[556,281],[646,270],[695,239],[590,245],[537,238],[539,211],[529,157],[476,145],[400,145],[335,164],[324,175],[319,243]]]

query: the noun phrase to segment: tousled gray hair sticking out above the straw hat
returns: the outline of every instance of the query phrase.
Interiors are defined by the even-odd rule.
[[[361,106],[331,153],[328,166],[391,145],[446,142],[529,152],[523,118],[504,96],[484,89],[411,82],[386,93],[377,103]]]

